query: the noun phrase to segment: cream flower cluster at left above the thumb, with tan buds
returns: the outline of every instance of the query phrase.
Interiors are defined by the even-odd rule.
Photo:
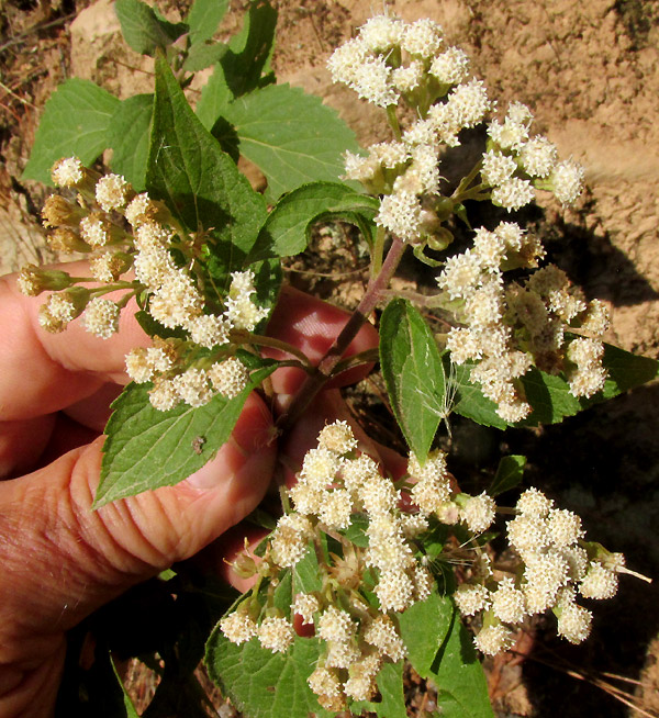
[[[166,411],[179,402],[202,406],[217,392],[228,399],[239,394],[248,381],[245,366],[235,357],[226,358],[226,350],[210,358],[208,351],[203,356],[197,352],[196,358],[193,348],[217,349],[230,341],[232,330],[253,332],[267,317],[268,310],[254,301],[254,273],[233,272],[228,293],[222,300],[224,312],[210,313],[190,269],[194,257],[191,255],[192,261],[180,266],[171,253],[176,247],[190,258],[186,250],[194,242],[183,236],[161,203],[145,192],[136,194],[123,177],[101,177],[75,157],[56,162],[52,173],[58,187],[75,189],[78,195],[77,202],[58,194],[49,197],[43,210],[44,225],[55,228],[58,249],[88,253],[91,279],[101,287],[71,288],[77,280],[64,272],[25,268],[18,280],[25,294],[55,291],[41,308],[42,326],[62,332],[82,315],[86,329],[107,339],[118,332],[121,308],[130,296],[146,294],[150,316],[188,337],[188,341],[158,341],[126,356],[131,379],[154,382],[152,404]],[[121,281],[131,269],[135,279]],[[124,290],[124,299],[119,303],[102,299],[111,289]]]

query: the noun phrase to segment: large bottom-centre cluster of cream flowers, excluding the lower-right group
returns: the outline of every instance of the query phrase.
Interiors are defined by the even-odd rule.
[[[304,456],[295,485],[288,490],[291,511],[270,535],[259,568],[261,575],[277,577],[282,569],[294,570],[310,551],[316,554],[324,588],[297,594],[291,612],[313,625],[324,641],[309,685],[321,705],[332,710],[345,706],[346,698],[371,698],[382,663],[404,658],[396,616],[427,598],[434,582],[416,543],[429,521],[461,523],[478,535],[494,520],[490,496],[469,496],[451,487],[440,451],[432,452],[423,464],[412,456],[401,489],[380,471],[373,459],[358,452],[347,423],[325,426],[317,446]],[[342,557],[321,559],[323,540],[340,538],[355,521],[364,526],[365,542],[344,539]],[[365,590],[377,604],[369,602]],[[253,613],[248,620],[247,606],[254,610],[254,604],[245,602],[221,621],[221,628],[233,642],[256,637],[265,646],[259,616]],[[266,604],[259,610],[269,615],[271,608]],[[271,650],[282,650],[283,644]]]

